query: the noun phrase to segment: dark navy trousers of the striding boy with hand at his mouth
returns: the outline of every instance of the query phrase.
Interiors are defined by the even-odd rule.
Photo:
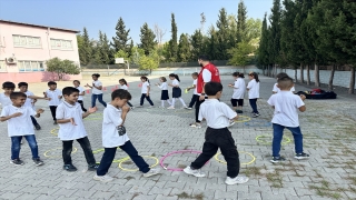
[[[130,140],[125,142],[125,144],[120,146],[119,148],[122,149],[130,157],[130,159],[135,162],[135,164],[141,172],[147,173],[150,170],[148,163],[142,159],[141,156],[138,154],[137,150],[135,149]],[[116,149],[117,148],[105,148],[100,166],[97,170],[98,176],[107,174],[115,158]]]

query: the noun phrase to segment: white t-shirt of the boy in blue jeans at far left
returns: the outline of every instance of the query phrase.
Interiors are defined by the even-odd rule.
[[[36,116],[36,111],[31,107],[18,108],[9,104],[2,109],[1,117],[8,117],[16,112],[21,112],[22,114],[8,120],[8,136],[14,137],[34,134],[30,116]]]

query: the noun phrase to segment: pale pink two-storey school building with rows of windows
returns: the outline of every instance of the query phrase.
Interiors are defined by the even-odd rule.
[[[80,66],[76,34],[79,31],[0,20],[0,83],[57,80],[46,61],[58,57]],[[66,76],[81,79],[81,74]]]

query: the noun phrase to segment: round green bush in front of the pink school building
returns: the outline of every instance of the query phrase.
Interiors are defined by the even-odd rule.
[[[52,58],[46,61],[47,71],[57,73],[58,80],[63,80],[66,74],[79,74],[80,68],[71,60],[60,60],[59,58]]]

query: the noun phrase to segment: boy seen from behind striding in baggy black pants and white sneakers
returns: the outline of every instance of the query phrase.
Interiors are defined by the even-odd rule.
[[[200,168],[209,161],[220,148],[220,151],[227,162],[227,178],[225,183],[236,184],[248,181],[247,177],[238,177],[240,162],[231,132],[227,129],[229,120],[238,119],[226,103],[220,102],[222,84],[219,82],[207,82],[205,84],[205,93],[208,99],[200,106],[199,120],[207,120],[208,128],[205,133],[205,142],[202,153],[184,169],[188,174],[195,177],[205,177]]]

